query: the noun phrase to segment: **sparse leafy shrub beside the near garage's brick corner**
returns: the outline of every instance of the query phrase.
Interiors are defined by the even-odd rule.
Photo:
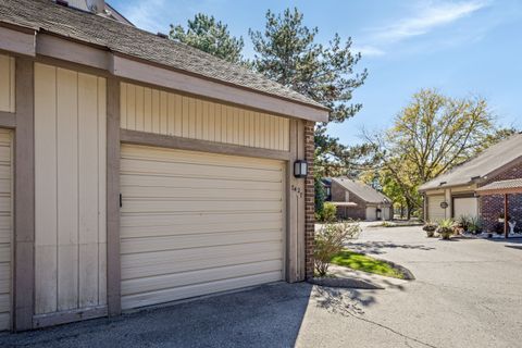
[[[346,240],[360,231],[358,224],[326,223],[315,233],[313,262],[319,276],[326,275],[332,258],[343,250]]]

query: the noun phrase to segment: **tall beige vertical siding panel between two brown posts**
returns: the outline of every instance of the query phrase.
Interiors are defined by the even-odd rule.
[[[105,79],[35,65],[35,311],[105,303]]]

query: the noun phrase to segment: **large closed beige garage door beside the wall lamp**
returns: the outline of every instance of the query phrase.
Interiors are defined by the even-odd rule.
[[[283,279],[284,163],[122,146],[122,308]]]

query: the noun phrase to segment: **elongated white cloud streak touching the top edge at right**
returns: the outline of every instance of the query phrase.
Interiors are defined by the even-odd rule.
[[[427,34],[438,26],[456,22],[487,5],[486,1],[430,3],[422,7],[412,17],[376,29],[373,37],[382,42],[397,42],[409,37]]]

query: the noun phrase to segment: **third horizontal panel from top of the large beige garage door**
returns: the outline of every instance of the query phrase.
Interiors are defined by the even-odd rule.
[[[207,178],[194,178],[194,177],[175,177],[175,181],[169,176],[154,176],[154,175],[134,175],[125,174],[121,175],[121,187],[186,187],[186,188],[220,188],[220,189],[257,189],[257,190],[274,190],[279,191],[283,186],[282,182],[254,182],[248,178],[239,178],[236,181],[219,179],[213,177]]]

